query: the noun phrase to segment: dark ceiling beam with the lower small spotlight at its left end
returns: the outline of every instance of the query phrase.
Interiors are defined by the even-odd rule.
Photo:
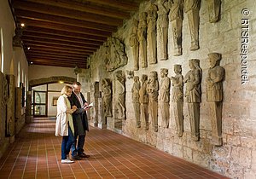
[[[89,52],[89,51],[75,51],[73,49],[56,49],[56,48],[45,48],[45,47],[41,47],[41,46],[33,46],[33,47],[30,47],[31,49],[26,49],[25,48],[25,51],[29,51],[29,50],[35,50],[35,51],[45,51],[45,52],[52,52],[52,53],[61,53],[61,54],[69,54],[69,55],[92,55],[93,52]]]

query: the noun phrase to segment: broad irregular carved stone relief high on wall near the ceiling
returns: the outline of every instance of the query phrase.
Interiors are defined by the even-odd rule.
[[[122,43],[118,38],[111,38],[106,48],[106,70],[112,72],[113,70],[125,66],[128,62],[128,57],[125,54],[125,44]]]

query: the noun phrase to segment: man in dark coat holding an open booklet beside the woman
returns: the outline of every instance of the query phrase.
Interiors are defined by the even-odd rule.
[[[88,106],[88,103],[84,100],[84,95],[80,93],[81,84],[79,82],[74,82],[72,87],[73,93],[69,100],[71,102],[71,106],[76,106],[78,108],[77,111],[73,113],[75,142],[71,147],[72,159],[89,158],[90,155],[86,155],[84,153],[86,130],[89,131],[89,124],[86,116],[86,110],[88,109],[86,106]],[[78,136],[79,140],[77,142]]]

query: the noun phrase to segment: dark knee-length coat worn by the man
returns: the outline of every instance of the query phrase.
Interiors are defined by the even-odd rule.
[[[82,95],[82,93],[80,93],[80,95],[82,97],[83,104],[84,104],[84,102],[86,102],[84,100],[84,95]],[[71,106],[78,107],[78,109],[72,114],[75,135],[76,136],[85,135],[85,130],[89,131],[87,115],[84,112],[84,109],[81,107],[79,98],[77,97],[77,95],[74,94],[74,92],[72,92],[72,95],[69,97],[69,101],[71,103]]]

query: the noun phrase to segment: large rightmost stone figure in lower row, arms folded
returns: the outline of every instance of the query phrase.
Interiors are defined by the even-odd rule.
[[[212,144],[222,145],[222,101],[224,68],[219,66],[221,55],[218,53],[208,54],[210,68],[207,74],[207,101],[210,104],[212,124]]]

